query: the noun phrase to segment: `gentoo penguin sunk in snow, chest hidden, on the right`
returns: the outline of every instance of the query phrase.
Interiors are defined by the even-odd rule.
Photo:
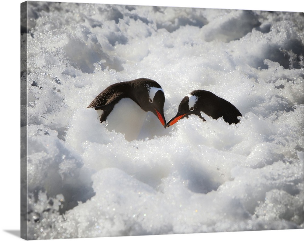
[[[182,99],[178,106],[177,114],[168,122],[167,127],[172,126],[181,118],[188,118],[188,116],[192,114],[198,115],[205,121],[201,115],[201,111],[213,119],[218,119],[223,116],[224,121],[228,122],[229,125],[240,122],[237,117],[242,116],[234,105],[212,92],[194,90]]]

